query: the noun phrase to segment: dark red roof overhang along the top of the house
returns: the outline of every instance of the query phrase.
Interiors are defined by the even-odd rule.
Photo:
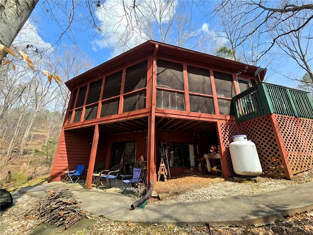
[[[107,62],[92,68],[89,71],[86,71],[73,79],[68,80],[65,84],[69,90],[73,90],[77,85],[88,81],[90,78],[95,76],[102,76],[104,72],[110,71],[118,66],[127,64],[129,61],[138,58],[138,60],[147,55],[152,55],[157,48],[157,55],[162,55],[165,57],[170,57],[183,61],[190,61],[192,63],[202,65],[204,67],[215,67],[220,68],[221,70],[227,70],[230,73],[235,73],[238,71],[248,69],[243,75],[254,77],[254,72],[258,69],[256,66],[247,65],[244,63],[224,59],[214,55],[209,55],[201,53],[198,51],[185,49],[182,47],[176,47],[156,41],[149,40],[137,47],[134,47],[114,58],[108,60]],[[264,79],[265,73],[262,73],[260,78],[261,81]]]

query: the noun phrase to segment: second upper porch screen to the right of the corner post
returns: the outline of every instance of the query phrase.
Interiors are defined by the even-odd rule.
[[[189,92],[212,94],[210,71],[187,66]]]

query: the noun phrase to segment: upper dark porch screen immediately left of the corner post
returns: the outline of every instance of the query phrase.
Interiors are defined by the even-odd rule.
[[[132,92],[146,87],[147,61],[127,68],[125,76],[124,93]]]

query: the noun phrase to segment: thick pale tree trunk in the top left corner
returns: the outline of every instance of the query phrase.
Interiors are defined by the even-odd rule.
[[[10,47],[38,0],[0,0],[0,43]],[[6,53],[2,52],[2,57]],[[0,59],[1,62],[1,59]]]

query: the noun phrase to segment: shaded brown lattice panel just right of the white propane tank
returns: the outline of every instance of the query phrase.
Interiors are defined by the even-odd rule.
[[[272,178],[290,178],[271,116],[251,119],[239,124],[242,133],[255,143],[263,174]]]

